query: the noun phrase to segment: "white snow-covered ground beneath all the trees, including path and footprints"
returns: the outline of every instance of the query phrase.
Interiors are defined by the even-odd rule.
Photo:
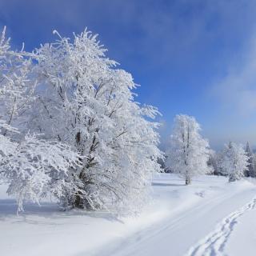
[[[154,178],[154,202],[137,218],[61,212],[54,202],[25,205],[0,186],[1,255],[255,255],[256,187],[202,176],[191,186],[174,174]]]

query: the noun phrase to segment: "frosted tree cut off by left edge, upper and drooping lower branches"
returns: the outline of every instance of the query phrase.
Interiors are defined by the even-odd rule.
[[[37,85],[33,62],[23,50],[10,49],[5,32],[0,38],[0,178],[22,210],[24,200],[39,202],[46,192],[62,198],[70,186],[68,172],[80,161],[70,146],[29,134],[26,123]]]

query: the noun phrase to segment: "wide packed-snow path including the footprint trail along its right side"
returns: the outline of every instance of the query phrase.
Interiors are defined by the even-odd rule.
[[[130,237],[119,238],[113,244],[104,246],[104,250],[99,250],[97,256],[155,256],[155,255],[175,255],[182,256],[186,254],[192,245],[190,256],[214,256],[225,255],[218,254],[223,252],[226,239],[229,237],[239,216],[246,211],[254,209],[256,198],[250,203],[251,198],[255,197],[255,188],[236,187],[237,184],[226,184],[224,190],[219,190],[218,194],[211,194],[206,191],[206,198],[202,196],[200,202],[194,202],[190,206],[183,207],[175,214],[170,215],[162,221],[146,229],[139,230]],[[214,187],[214,186],[212,186]],[[190,190],[186,188],[186,190]],[[192,190],[190,191],[192,192]],[[195,193],[200,194],[203,193]],[[240,208],[243,206],[242,208]],[[239,210],[236,210],[239,209]],[[230,212],[232,214],[230,214]],[[216,223],[218,223],[227,214],[221,226],[213,233]],[[206,237],[206,234],[209,234]],[[205,238],[199,243],[200,238]],[[84,254],[79,254],[79,256]],[[91,254],[95,255],[95,254]]]

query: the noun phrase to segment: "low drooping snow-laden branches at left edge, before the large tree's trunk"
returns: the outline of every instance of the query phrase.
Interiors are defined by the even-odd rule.
[[[10,127],[1,128],[13,132]],[[34,134],[20,142],[0,134],[0,145],[0,174],[9,184],[7,193],[17,198],[18,211],[23,210],[25,200],[39,203],[49,193],[58,199],[65,196],[62,191],[70,186],[66,182],[70,168],[79,162],[78,154],[69,146],[38,139]]]

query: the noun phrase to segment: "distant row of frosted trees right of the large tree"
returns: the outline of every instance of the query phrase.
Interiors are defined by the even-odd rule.
[[[229,142],[222,151],[210,149],[209,142],[200,135],[200,126],[194,117],[178,114],[174,118],[174,130],[170,146],[166,150],[166,170],[178,173],[186,185],[199,174],[228,176],[229,182],[243,177],[256,177],[256,158],[249,142]]]

